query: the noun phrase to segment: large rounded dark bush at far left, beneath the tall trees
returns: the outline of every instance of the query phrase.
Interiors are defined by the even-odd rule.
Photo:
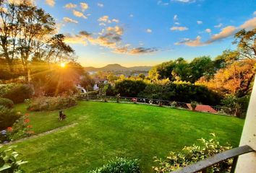
[[[17,84],[12,89],[9,89],[2,97],[12,99],[16,103],[22,103],[25,99],[30,99],[33,96],[33,89],[27,84]]]

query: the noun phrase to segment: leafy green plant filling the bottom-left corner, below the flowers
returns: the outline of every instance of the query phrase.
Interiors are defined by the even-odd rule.
[[[23,172],[20,165],[26,164],[27,161],[18,160],[18,156],[19,154],[14,151],[13,147],[3,148],[0,146],[0,172]]]

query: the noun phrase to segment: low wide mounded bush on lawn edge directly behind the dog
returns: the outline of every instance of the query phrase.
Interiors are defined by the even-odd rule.
[[[61,110],[74,105],[77,105],[77,101],[73,97],[38,97],[30,102],[27,110]]]

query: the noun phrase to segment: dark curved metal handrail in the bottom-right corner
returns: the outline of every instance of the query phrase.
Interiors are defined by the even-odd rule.
[[[238,156],[242,154],[247,154],[250,152],[255,152],[255,150],[252,149],[250,146],[239,146],[237,148],[233,148],[228,151],[223,151],[222,153],[211,156],[208,159],[198,161],[195,164],[191,164],[187,167],[178,169],[171,173],[195,173],[195,172],[205,173],[207,172],[208,167],[211,167],[214,164],[218,164],[221,161],[225,161],[226,159],[231,159],[231,158],[234,158],[233,164],[231,167],[231,173],[234,173],[236,169],[236,162],[237,162]]]

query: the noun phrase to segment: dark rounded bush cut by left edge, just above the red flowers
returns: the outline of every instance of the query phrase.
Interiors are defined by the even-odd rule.
[[[0,130],[12,127],[16,120],[20,117],[17,112],[12,109],[0,105]]]

